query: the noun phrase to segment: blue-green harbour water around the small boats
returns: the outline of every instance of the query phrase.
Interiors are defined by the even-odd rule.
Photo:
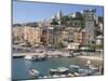
[[[81,68],[85,68],[86,62],[87,59],[78,58],[78,57],[48,58],[42,62],[31,62],[31,60],[26,60],[24,58],[13,58],[12,79],[14,80],[32,79],[28,72],[30,68],[40,71],[41,76],[48,76],[49,73],[48,70],[51,68],[53,69],[58,67],[69,68],[69,65],[78,65]],[[98,67],[103,64],[103,62],[92,60],[92,64]]]

